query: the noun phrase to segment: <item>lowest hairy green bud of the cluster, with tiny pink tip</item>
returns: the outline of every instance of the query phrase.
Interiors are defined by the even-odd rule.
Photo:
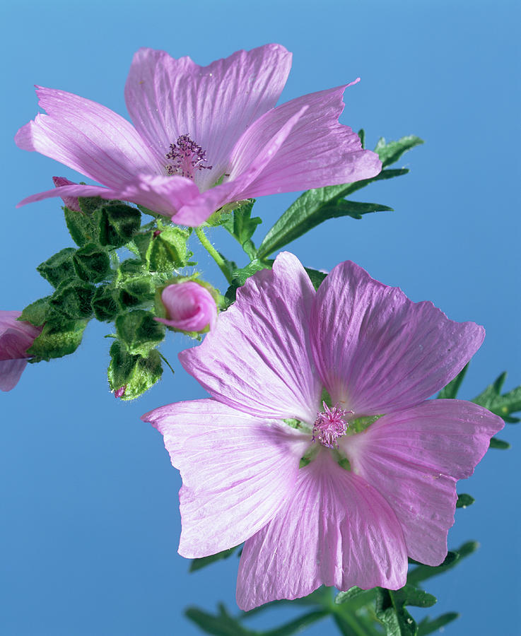
[[[112,391],[124,387],[122,400],[133,400],[153,387],[163,374],[157,349],[146,355],[133,355],[119,341],[110,347],[107,377]]]

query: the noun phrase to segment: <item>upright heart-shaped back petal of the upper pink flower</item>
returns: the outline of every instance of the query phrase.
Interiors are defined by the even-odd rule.
[[[274,107],[290,68],[291,54],[281,45],[238,51],[209,66],[139,49],[125,99],[136,129],[157,148],[158,158],[182,134],[206,151],[212,170],[202,170],[196,180],[207,189],[228,172],[231,150],[245,129]]]

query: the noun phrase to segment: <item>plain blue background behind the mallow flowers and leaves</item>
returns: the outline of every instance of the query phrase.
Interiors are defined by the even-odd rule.
[[[281,42],[294,54],[282,101],[361,76],[346,93],[341,122],[381,135],[426,140],[402,158],[409,175],[361,191],[359,200],[394,207],[363,220],[329,220],[290,249],[308,266],[353,259],[413,300],[433,300],[456,320],[484,324],[486,341],[462,388],[472,398],[503,370],[521,379],[520,25],[517,1],[262,3],[47,0],[4,6],[2,83],[1,307],[22,309],[49,293],[35,266],[71,240],[59,201],[15,209],[78,175],[16,148],[13,136],[37,112],[33,84],[62,88],[126,114],[124,81],[140,46],[189,55],[199,64],[236,49]],[[257,203],[259,239],[295,195]],[[223,230],[211,235],[242,259]],[[223,286],[206,253],[209,281]],[[245,264],[244,260],[240,261]],[[107,389],[110,326],[92,323],[75,355],[31,365],[2,394],[0,632],[6,635],[194,635],[183,608],[235,608],[235,557],[195,574],[177,555],[180,478],[160,435],[142,413],[203,396],[177,363],[189,346],[170,335],[175,367],[134,403]],[[450,546],[476,538],[481,549],[433,579],[433,613],[457,610],[452,635],[519,633],[519,429],[500,434],[459,492]],[[423,611],[416,613],[422,616]],[[293,611],[270,611],[252,625],[275,625]],[[324,633],[325,623],[308,630]],[[334,633],[332,623],[328,623]],[[329,633],[329,630],[327,631]]]

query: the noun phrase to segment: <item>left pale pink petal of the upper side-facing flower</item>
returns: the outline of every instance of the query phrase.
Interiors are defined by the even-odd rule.
[[[134,126],[109,108],[64,90],[37,88],[37,114],[15,136],[19,148],[37,151],[108,187],[138,172],[158,172],[158,162]]]

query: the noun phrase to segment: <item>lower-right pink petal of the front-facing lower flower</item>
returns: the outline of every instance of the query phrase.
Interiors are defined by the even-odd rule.
[[[439,565],[454,523],[456,480],[472,475],[503,425],[472,402],[430,400],[383,416],[340,444],[352,470],[396,513],[409,556]]]

